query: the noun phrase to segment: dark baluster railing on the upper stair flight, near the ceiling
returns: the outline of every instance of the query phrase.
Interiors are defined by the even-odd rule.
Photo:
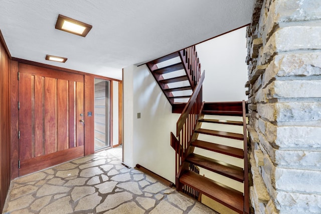
[[[201,78],[201,63],[195,45],[181,50],[179,54],[186,74],[189,77],[189,82],[194,90]]]

